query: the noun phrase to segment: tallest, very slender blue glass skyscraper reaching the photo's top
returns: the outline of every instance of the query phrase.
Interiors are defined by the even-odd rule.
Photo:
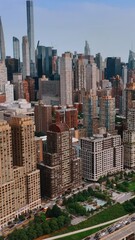
[[[27,36],[29,42],[30,73],[35,76],[35,47],[34,47],[34,13],[33,1],[26,1],[27,8]]]

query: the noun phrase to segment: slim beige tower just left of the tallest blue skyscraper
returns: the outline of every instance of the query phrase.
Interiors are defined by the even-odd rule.
[[[23,78],[30,76],[30,57],[28,37],[22,38]]]

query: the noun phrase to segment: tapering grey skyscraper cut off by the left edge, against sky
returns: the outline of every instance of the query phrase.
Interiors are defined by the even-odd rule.
[[[3,33],[3,27],[0,17],[0,60],[5,61],[5,41],[4,41],[4,33]]]

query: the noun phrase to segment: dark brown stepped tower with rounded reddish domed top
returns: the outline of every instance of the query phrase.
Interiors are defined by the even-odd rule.
[[[38,166],[42,196],[56,198],[81,185],[81,161],[72,148],[72,133],[66,123],[50,126],[44,164]]]

